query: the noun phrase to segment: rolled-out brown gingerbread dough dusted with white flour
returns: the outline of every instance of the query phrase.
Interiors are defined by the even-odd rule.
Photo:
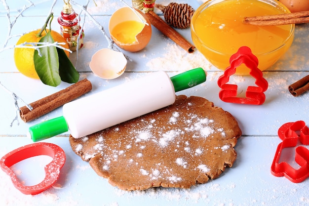
[[[70,136],[70,144],[120,189],[190,188],[233,165],[240,136],[230,113],[202,97],[180,95],[173,105],[139,118],[79,139]]]

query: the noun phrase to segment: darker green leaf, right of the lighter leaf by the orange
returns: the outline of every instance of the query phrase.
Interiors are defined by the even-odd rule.
[[[79,80],[79,74],[63,49],[57,48],[59,56],[59,75],[63,82],[76,83]]]

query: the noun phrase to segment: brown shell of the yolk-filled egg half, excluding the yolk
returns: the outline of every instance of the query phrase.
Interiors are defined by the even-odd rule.
[[[149,43],[151,36],[152,36],[152,28],[151,23],[147,16],[140,10],[137,10],[137,14],[149,25],[144,24],[144,28],[141,31],[137,31],[137,35],[135,36],[136,41],[130,44],[123,43],[119,40],[117,40],[113,36],[113,29],[116,25],[118,25],[121,22],[125,21],[137,21],[141,22],[141,19],[137,16],[137,14],[131,10],[129,7],[122,7],[116,10],[113,15],[111,16],[110,22],[109,22],[109,31],[112,40],[123,50],[135,52],[140,51],[143,48],[146,47],[146,45]]]

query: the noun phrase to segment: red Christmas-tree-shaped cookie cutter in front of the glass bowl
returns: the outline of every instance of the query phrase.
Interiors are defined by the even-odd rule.
[[[250,69],[250,75],[256,79],[257,86],[248,86],[246,97],[237,97],[237,85],[228,84],[230,76],[235,74],[236,68],[241,64],[245,64]],[[242,46],[230,58],[230,66],[219,77],[218,85],[221,88],[219,97],[224,102],[238,104],[255,104],[261,105],[265,102],[264,91],[268,88],[268,82],[263,78],[262,71],[258,68],[259,60],[252,54],[251,49]]]

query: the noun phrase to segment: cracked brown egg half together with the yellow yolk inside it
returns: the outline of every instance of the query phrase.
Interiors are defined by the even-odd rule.
[[[137,9],[134,12],[129,7],[116,10],[111,16],[109,30],[112,40],[120,48],[131,52],[145,48],[152,35],[151,24],[146,15]]]

